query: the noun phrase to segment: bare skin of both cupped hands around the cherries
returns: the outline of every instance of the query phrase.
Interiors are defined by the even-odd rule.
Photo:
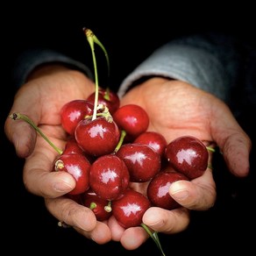
[[[48,138],[63,149],[67,138],[60,125],[60,108],[68,101],[87,98],[94,90],[94,82],[78,71],[60,66],[43,67],[18,90],[10,113],[18,111],[31,117]],[[207,146],[217,145],[232,174],[238,177],[248,174],[251,140],[231,110],[215,96],[186,82],[152,78],[126,93],[121,105],[127,103],[139,104],[146,110],[150,117],[148,131],[160,132],[167,142],[190,134]],[[45,198],[46,208],[53,217],[98,244],[113,239],[131,250],[146,241],[148,235],[142,227],[124,231],[114,217],[108,222],[97,222],[91,210],[64,196],[75,187],[75,180],[66,172],[52,172],[58,153],[37,136],[29,124],[7,118],[5,133],[18,156],[25,158],[25,188]],[[146,184],[134,184],[133,188],[145,191]],[[183,207],[177,210],[150,208],[143,222],[155,231],[173,234],[188,227],[189,210],[208,210],[214,205],[216,185],[211,169],[195,180],[174,182],[169,193]]]

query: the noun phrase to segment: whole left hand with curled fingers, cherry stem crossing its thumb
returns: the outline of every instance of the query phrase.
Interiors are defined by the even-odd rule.
[[[81,72],[47,65],[33,72],[18,90],[11,113],[30,117],[54,145],[64,149],[67,138],[60,124],[60,108],[71,100],[86,99],[94,91],[94,82]],[[46,208],[53,217],[99,244],[108,242],[111,239],[108,226],[96,222],[91,210],[65,196],[75,188],[75,180],[66,172],[52,172],[57,153],[45,139],[37,136],[29,124],[13,122],[11,118],[6,119],[5,133],[18,156],[25,158],[25,188],[45,198]]]

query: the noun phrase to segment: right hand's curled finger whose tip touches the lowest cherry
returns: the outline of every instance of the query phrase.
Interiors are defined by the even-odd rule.
[[[183,207],[175,210],[151,207],[146,210],[142,221],[154,231],[174,234],[184,231],[188,227],[189,210]]]

